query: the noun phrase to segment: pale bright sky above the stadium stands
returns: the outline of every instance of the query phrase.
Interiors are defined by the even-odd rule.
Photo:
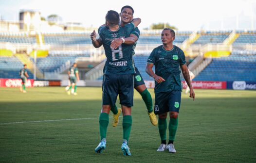
[[[0,0],[0,18],[18,20],[19,11],[28,9],[98,27],[109,10],[120,13],[124,5],[142,19],[140,29],[169,23],[180,31],[256,30],[256,0]]]

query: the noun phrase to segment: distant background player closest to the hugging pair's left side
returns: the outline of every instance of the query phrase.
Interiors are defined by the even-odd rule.
[[[71,89],[71,94],[72,95],[77,95],[76,93],[76,81],[79,81],[79,75],[78,75],[78,68],[77,64],[74,63],[73,66],[70,67],[68,71],[68,75],[70,78],[70,89]],[[68,90],[68,95],[70,95],[70,91]]]

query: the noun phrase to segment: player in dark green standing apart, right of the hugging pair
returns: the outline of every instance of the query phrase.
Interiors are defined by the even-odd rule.
[[[176,153],[174,140],[178,128],[178,114],[181,103],[181,70],[183,77],[190,88],[190,98],[195,99],[195,93],[186,66],[185,55],[182,49],[173,45],[175,32],[165,28],[161,34],[163,45],[153,49],[147,59],[146,72],[155,80],[155,107],[154,112],[158,114],[158,129],[161,145],[157,151],[169,150]],[[155,73],[152,70],[155,65]],[[169,142],[166,145],[167,112],[169,112]]]

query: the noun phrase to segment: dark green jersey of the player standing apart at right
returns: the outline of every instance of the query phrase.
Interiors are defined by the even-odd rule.
[[[155,81],[155,93],[182,90],[181,65],[186,64],[182,49],[174,46],[165,50],[163,45],[153,49],[147,63],[155,65],[155,74],[164,78],[160,84]]]

